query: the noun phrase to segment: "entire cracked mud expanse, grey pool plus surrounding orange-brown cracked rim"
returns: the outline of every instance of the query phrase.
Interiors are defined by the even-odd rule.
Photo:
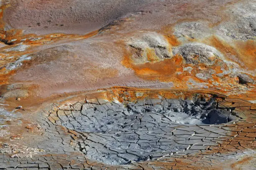
[[[38,112],[38,123],[30,128],[40,130],[42,138],[28,149],[28,157],[19,154],[22,146],[4,144],[1,168],[196,169],[200,165],[202,169],[214,169],[208,161],[233,163],[234,158],[243,160],[255,154],[256,124],[243,120],[254,116],[253,110],[246,110],[251,107],[248,102],[216,98],[215,93],[172,90],[102,92],[97,98],[95,93],[87,93],[79,102],[74,101],[75,97]],[[202,120],[212,117],[212,110],[214,121],[204,123]],[[208,118],[202,117],[205,112]],[[184,115],[186,122],[193,121],[175,121]],[[225,122],[231,117],[231,122]],[[16,153],[8,153],[8,148]],[[31,158],[29,152],[33,153]]]

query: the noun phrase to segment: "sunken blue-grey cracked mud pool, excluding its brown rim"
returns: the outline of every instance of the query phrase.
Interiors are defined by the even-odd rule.
[[[156,160],[202,144],[202,127],[196,124],[227,123],[231,117],[237,118],[216,105],[214,99],[77,103],[73,106],[76,110],[58,110],[57,115],[61,125],[86,136],[78,147],[88,158],[119,165]]]

